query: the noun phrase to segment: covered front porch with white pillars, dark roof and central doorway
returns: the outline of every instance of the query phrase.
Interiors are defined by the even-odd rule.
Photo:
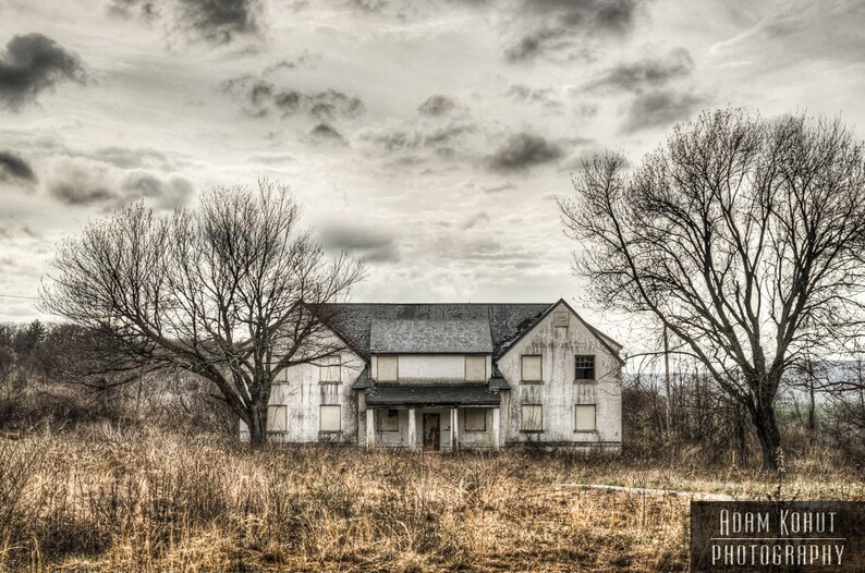
[[[501,444],[499,391],[486,385],[376,386],[365,399],[367,448],[455,451]]]

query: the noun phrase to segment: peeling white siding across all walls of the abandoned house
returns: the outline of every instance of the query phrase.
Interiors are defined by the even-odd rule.
[[[568,314],[564,320],[563,313]],[[557,324],[559,326],[557,326]],[[568,325],[561,326],[561,325]],[[540,380],[522,381],[523,355],[540,356]],[[575,356],[595,357],[595,381],[575,380]],[[404,354],[395,356],[399,383],[458,383],[465,380],[466,361],[464,354]],[[363,446],[367,443],[367,407],[363,391],[352,390],[352,383],[365,367],[364,361],[354,352],[345,350],[340,355],[339,366],[326,361],[322,367],[304,364],[290,368],[278,377],[271,392],[270,405],[284,406],[284,431],[271,432],[271,441],[297,443],[337,441]],[[330,365],[330,366],[329,366]],[[621,386],[620,364],[616,355],[568,308],[560,303],[548,313],[523,338],[517,340],[497,365],[511,386],[502,391],[498,411],[484,407],[485,429],[466,430],[465,410],[458,410],[456,442],[463,448],[489,448],[494,446],[528,444],[590,447],[604,444],[608,448],[621,447]],[[492,357],[485,356],[485,376],[492,373]],[[339,371],[339,382],[324,379],[334,378]],[[378,376],[378,357],[371,356],[370,376]],[[470,382],[472,383],[472,382]],[[477,383],[477,382],[474,382]],[[540,431],[522,431],[522,406],[538,404],[543,406]],[[577,431],[575,424],[576,404],[595,405],[596,429]],[[321,431],[322,405],[340,406],[340,430]],[[399,431],[380,431],[375,428],[375,444],[380,447],[423,447],[424,414],[438,413],[440,416],[440,449],[451,447],[450,407],[399,407]],[[277,411],[275,411],[276,414]],[[387,410],[379,412],[386,413]],[[282,415],[280,409],[279,415]],[[410,441],[410,415],[415,416],[415,440]],[[241,425],[243,437],[245,428]],[[498,444],[496,440],[498,438]]]

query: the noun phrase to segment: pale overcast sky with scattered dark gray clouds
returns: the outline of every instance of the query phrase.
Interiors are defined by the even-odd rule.
[[[585,307],[555,202],[581,159],[637,163],[727,106],[862,137],[863,24],[831,0],[0,0],[0,320],[50,319],[33,297],[86,221],[263,176],[366,256],[355,301]]]

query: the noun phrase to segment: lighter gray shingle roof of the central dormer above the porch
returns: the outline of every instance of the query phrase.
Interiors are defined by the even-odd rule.
[[[369,329],[373,354],[491,354],[489,321],[470,318],[380,319]]]

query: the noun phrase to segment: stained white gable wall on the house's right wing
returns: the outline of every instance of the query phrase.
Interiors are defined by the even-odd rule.
[[[588,446],[602,442],[621,446],[622,401],[618,359],[573,314],[568,327],[553,326],[560,304],[525,334],[498,361],[498,366],[511,385],[502,400],[502,426],[505,443],[536,441],[546,444]],[[521,356],[541,356],[543,382],[521,382]],[[574,356],[595,355],[596,382],[575,382]],[[521,430],[521,406],[544,406],[543,431]],[[596,405],[596,431],[574,431],[574,405]]]

